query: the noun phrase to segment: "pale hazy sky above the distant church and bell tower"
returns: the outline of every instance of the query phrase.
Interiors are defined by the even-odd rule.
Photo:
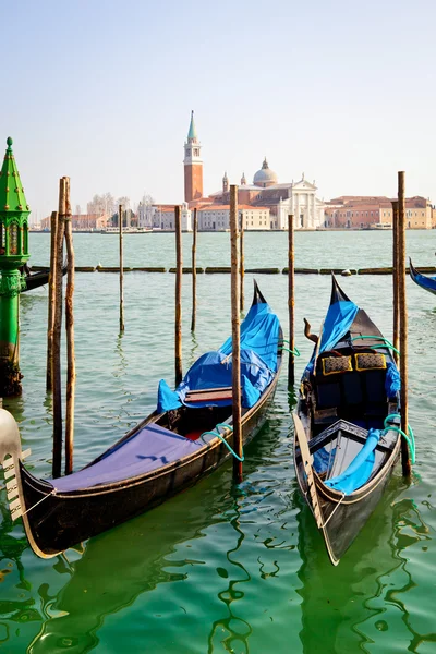
[[[205,194],[266,155],[326,199],[395,195],[405,170],[407,195],[436,202],[433,0],[21,0],[0,16],[0,148],[13,137],[33,219],[64,174],[83,210],[108,191],[182,202],[191,109]]]

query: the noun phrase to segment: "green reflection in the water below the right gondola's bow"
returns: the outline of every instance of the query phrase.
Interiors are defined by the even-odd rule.
[[[325,652],[370,652],[376,642],[382,646],[377,651],[387,653],[399,651],[399,643],[401,651],[417,652],[421,643],[436,641],[435,634],[416,632],[405,604],[405,593],[416,588],[407,550],[431,536],[414,502],[398,500],[404,488],[401,477],[391,480],[337,568],[328,560],[312,513],[296,499],[304,654],[312,654],[320,642]]]

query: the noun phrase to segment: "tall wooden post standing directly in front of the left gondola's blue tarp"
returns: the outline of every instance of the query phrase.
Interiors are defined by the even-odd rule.
[[[240,336],[240,257],[238,239],[238,186],[230,184],[230,244],[231,244],[231,315],[232,315],[232,405],[233,449],[242,459],[241,425],[241,336]],[[233,480],[242,482],[242,461],[233,457]]]

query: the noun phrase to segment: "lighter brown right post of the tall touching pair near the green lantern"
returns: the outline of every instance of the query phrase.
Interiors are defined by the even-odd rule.
[[[73,472],[74,401],[75,401],[75,352],[74,352],[74,247],[71,223],[70,178],[65,179],[65,245],[68,256],[65,291],[66,327],[66,415],[65,415],[65,474]]]

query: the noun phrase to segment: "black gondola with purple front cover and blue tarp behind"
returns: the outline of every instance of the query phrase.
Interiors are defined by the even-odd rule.
[[[255,284],[241,325],[244,445],[265,421],[281,350],[279,320]],[[34,552],[56,556],[162,502],[229,459],[230,385],[228,339],[218,351],[201,356],[175,391],[161,382],[157,410],[116,445],[82,470],[51,481],[35,477],[24,465],[16,423],[0,410],[0,461],[10,509],[13,519],[23,517]]]

